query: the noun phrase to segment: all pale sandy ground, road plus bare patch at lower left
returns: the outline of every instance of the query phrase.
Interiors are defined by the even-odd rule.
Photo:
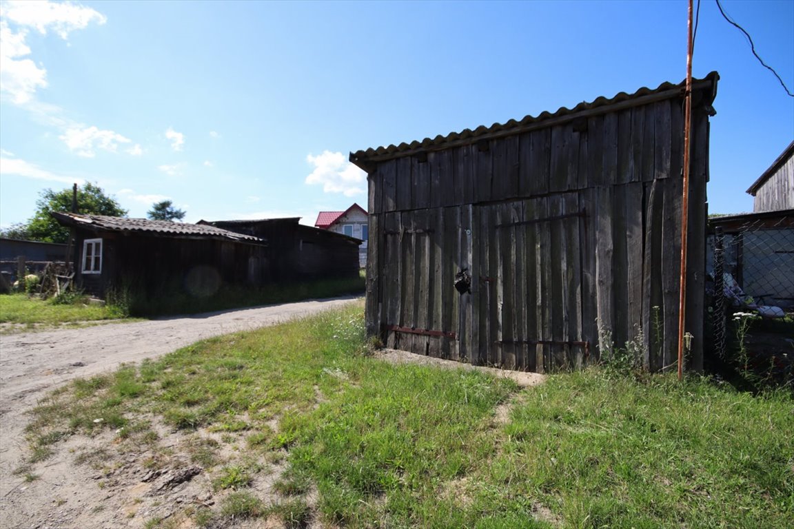
[[[152,427],[162,430],[156,446],[119,447],[112,432],[90,439],[75,436],[57,443],[51,458],[14,473],[24,469],[28,454],[26,413],[49,391],[74,378],[156,358],[211,336],[331,309],[351,299],[0,335],[0,527],[143,527],[145,520],[174,516],[184,505],[214,502],[217,498],[204,472],[163,485],[169,476],[195,465],[183,458],[184,435],[156,424]],[[156,456],[162,454],[158,463]],[[148,467],[154,466],[161,466],[164,473],[142,481]],[[277,465],[261,470],[254,486],[267,488],[268,480],[278,473]],[[191,527],[190,523],[179,526]]]

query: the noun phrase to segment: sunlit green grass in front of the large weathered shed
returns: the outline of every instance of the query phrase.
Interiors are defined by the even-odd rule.
[[[371,358],[363,327],[358,303],[75,381],[34,412],[32,447],[118,424],[138,446],[141,414],[194,431],[186,450],[223,495],[201,526],[792,527],[791,393],[603,369],[521,390]],[[223,443],[245,459],[222,461]],[[265,504],[252,482],[275,461]]]

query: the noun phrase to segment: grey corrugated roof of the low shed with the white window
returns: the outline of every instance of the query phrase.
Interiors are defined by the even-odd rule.
[[[182,224],[181,222],[172,222],[170,220],[129,219],[126,217],[106,217],[105,215],[82,215],[80,213],[52,213],[52,217],[55,217],[60,224],[65,226],[107,232],[264,243],[264,240],[259,237],[241,235],[206,224]]]

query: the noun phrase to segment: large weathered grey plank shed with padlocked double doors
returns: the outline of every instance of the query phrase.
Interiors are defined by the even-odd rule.
[[[685,330],[703,363],[708,118],[693,83]],[[368,334],[545,372],[635,343],[675,366],[684,85],[350,154],[368,173]]]

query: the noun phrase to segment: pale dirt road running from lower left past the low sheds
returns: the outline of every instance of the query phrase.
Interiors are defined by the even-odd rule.
[[[0,336],[0,527],[66,527],[46,516],[51,498],[34,498],[13,470],[25,457],[25,412],[73,378],[156,358],[200,339],[252,330],[330,309],[351,297],[137,323]],[[54,476],[52,479],[60,479]],[[58,506],[53,507],[57,514]],[[52,523],[52,524],[48,524]]]

